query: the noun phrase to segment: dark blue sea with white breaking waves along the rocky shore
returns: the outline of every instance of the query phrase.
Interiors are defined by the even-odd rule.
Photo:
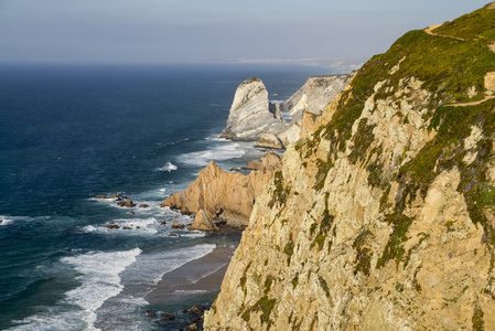
[[[144,296],[163,274],[218,246],[235,247],[239,236],[174,231],[173,222],[192,220],[160,202],[184,190],[211,159],[229,169],[263,153],[215,138],[238,84],[258,76],[272,100],[283,100],[315,74],[326,73],[1,65],[0,330],[163,330],[143,317]],[[95,199],[116,193],[149,207],[131,213]],[[105,227],[110,222],[120,228]],[[180,311],[191,298],[215,295],[151,308]]]

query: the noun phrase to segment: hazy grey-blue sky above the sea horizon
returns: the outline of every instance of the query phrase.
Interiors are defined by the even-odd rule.
[[[488,0],[0,0],[0,63],[346,65]]]

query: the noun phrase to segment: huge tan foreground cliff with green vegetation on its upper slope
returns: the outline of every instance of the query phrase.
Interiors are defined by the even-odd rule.
[[[407,33],[303,117],[206,330],[495,330],[494,7]]]

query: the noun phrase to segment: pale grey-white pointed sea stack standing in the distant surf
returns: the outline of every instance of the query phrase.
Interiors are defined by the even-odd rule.
[[[222,131],[220,137],[256,141],[261,134],[277,134],[286,126],[278,107],[268,100],[268,92],[263,83],[254,77],[237,87],[227,127]]]

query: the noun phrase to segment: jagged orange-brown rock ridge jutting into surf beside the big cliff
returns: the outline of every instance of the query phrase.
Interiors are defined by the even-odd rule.
[[[256,163],[256,170],[245,175],[223,171],[211,161],[185,191],[172,194],[161,206],[185,209],[194,214],[203,211],[208,220],[220,218],[229,225],[246,225],[257,196],[280,164],[280,157],[269,152]]]

